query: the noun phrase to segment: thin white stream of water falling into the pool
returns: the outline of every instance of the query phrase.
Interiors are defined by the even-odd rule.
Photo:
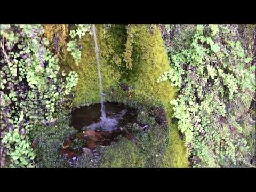
[[[104,103],[103,103],[103,94],[102,94],[102,83],[101,83],[101,74],[100,74],[100,60],[99,60],[99,48],[98,48],[97,36],[96,36],[96,30],[95,30],[95,25],[94,24],[92,25],[92,28],[93,28],[95,52],[96,52],[97,67],[98,67],[99,87],[100,87],[101,120],[104,121],[105,118],[106,118],[106,113],[105,113],[105,106],[104,106]]]

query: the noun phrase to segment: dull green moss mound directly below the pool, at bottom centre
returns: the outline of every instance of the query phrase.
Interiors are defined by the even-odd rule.
[[[100,167],[143,167],[145,162],[139,155],[136,144],[126,138],[107,147]]]

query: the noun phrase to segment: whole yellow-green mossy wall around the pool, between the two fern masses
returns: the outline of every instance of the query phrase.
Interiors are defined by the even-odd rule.
[[[133,87],[132,90],[128,91],[129,97],[125,99],[129,98],[134,102],[147,103],[151,106],[164,106],[168,121],[166,129],[168,135],[163,166],[187,167],[186,148],[183,146],[179,134],[177,134],[177,126],[171,124],[172,109],[170,101],[177,97],[177,91],[175,87],[171,86],[170,82],[156,82],[163,71],[170,70],[169,59],[159,27],[153,25],[114,25],[109,30],[105,30],[103,25],[97,25],[97,35],[103,91],[108,92],[111,88],[114,88],[118,92],[116,101],[123,100],[124,98],[120,99],[121,89],[119,87],[119,83],[122,82],[128,84],[129,87]],[[75,70],[79,77],[74,106],[99,102],[93,37],[86,34],[81,45],[83,46],[82,59],[78,66],[76,66],[70,54],[67,54],[68,56],[61,63],[63,70]],[[112,101],[115,101],[115,98],[114,100],[112,98]],[[154,137],[158,138],[157,135]],[[151,139],[149,141],[145,140],[148,143],[144,143],[144,146],[153,146],[152,141]],[[132,144],[131,141],[125,143],[123,145],[123,141],[121,141],[119,145],[108,148],[103,157],[104,163],[102,166],[152,166],[150,162],[155,161],[152,160],[152,154],[141,154],[138,152],[137,146]],[[154,143],[157,142],[154,141]]]

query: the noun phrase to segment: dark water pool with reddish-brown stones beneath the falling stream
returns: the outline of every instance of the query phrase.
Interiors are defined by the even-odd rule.
[[[69,161],[83,153],[93,157],[99,146],[118,142],[120,137],[136,141],[129,124],[137,122],[137,110],[123,103],[105,102],[106,119],[101,120],[100,103],[76,108],[71,113],[71,126],[75,133],[63,143],[61,154]]]

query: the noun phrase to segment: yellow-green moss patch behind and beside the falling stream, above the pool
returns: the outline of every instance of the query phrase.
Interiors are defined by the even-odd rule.
[[[115,87],[120,78],[118,65],[116,65],[118,60],[113,59],[113,55],[116,55],[116,53],[113,49],[113,42],[110,41],[110,36],[110,32],[106,32],[102,25],[97,26],[103,91],[109,90],[110,87]],[[71,69],[78,74],[79,80],[74,106],[99,102],[98,69],[93,36],[85,34],[81,40],[81,46],[81,61],[79,61],[78,66],[70,54],[61,63],[63,70]]]

